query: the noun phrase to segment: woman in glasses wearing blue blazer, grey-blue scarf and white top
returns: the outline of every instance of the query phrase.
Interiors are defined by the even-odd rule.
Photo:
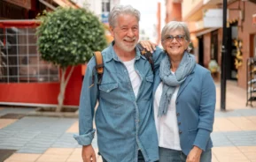
[[[166,55],[155,71],[153,91],[159,162],[210,162],[213,78],[188,52],[190,32],[185,23],[169,22],[161,38]]]

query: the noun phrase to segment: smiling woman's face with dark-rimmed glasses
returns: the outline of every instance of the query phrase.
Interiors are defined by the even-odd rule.
[[[189,44],[190,42],[185,40],[185,34],[182,29],[171,31],[168,37],[162,41],[163,48],[171,57],[182,56]]]

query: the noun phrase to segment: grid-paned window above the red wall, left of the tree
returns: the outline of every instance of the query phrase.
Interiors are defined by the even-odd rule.
[[[57,82],[58,67],[40,59],[35,28],[0,28],[0,83]]]

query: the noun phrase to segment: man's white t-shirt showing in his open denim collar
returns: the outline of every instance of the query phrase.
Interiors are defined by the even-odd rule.
[[[142,80],[141,80],[140,76],[136,73],[135,61],[136,61],[136,59],[134,58],[128,62],[123,62],[123,63],[128,70],[128,75],[130,77],[130,81],[131,81],[135,96],[137,97]]]

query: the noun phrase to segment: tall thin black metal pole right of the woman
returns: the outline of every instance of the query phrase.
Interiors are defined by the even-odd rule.
[[[226,110],[227,0],[223,0],[223,34],[221,51],[221,111]]]

